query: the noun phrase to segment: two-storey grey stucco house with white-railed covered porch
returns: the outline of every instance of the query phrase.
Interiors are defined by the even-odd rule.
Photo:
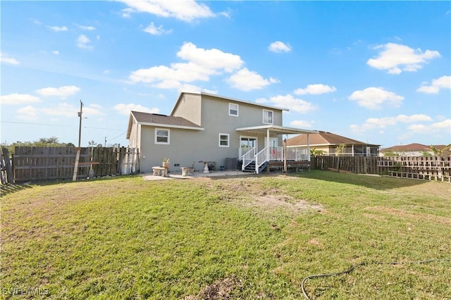
[[[282,112],[276,108],[249,101],[206,93],[182,92],[171,115],[132,111],[127,139],[140,149],[141,172],[170,159],[169,171],[180,167],[204,169],[208,163],[221,167],[257,173],[270,161],[283,159],[283,135],[309,135],[315,130],[284,127]],[[309,151],[293,153],[297,161],[309,161]],[[249,169],[250,168],[250,169]]]

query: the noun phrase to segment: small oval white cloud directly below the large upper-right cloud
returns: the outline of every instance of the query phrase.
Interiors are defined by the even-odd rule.
[[[403,96],[385,91],[381,87],[367,87],[362,91],[355,91],[349,96],[352,101],[357,101],[359,106],[369,109],[380,109],[382,105],[400,106]]]

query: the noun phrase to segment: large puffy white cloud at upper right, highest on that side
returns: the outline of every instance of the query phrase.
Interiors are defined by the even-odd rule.
[[[388,70],[390,74],[400,74],[402,71],[416,72],[433,58],[440,57],[438,51],[421,51],[402,44],[388,43],[374,46],[373,49],[383,49],[376,58],[370,58],[366,63],[379,70]]]

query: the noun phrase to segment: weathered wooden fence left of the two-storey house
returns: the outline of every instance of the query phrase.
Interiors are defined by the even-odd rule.
[[[8,149],[2,149],[2,153]],[[73,178],[75,147],[16,146],[11,157],[11,174],[2,160],[1,182],[20,183]],[[4,172],[4,165],[5,170]],[[139,173],[139,151],[135,148],[81,148],[77,179]],[[6,176],[4,176],[4,173]]]

